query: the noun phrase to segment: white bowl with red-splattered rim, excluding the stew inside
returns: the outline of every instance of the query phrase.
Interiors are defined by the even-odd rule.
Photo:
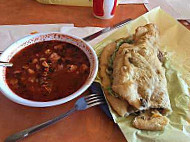
[[[0,61],[9,62],[10,59],[21,49],[42,41],[50,41],[50,40],[59,40],[64,41],[67,43],[71,43],[73,45],[76,45],[78,48],[80,48],[88,57],[90,61],[90,74],[86,80],[86,82],[83,84],[83,86],[74,92],[73,94],[61,98],[54,101],[48,101],[48,102],[37,102],[37,101],[31,101],[24,99],[18,95],[16,95],[7,85],[6,83],[6,68],[0,67],[0,91],[10,100],[26,105],[31,107],[48,107],[48,106],[55,106],[59,104],[63,104],[65,102],[68,102],[77,96],[81,95],[87,88],[91,85],[91,83],[94,81],[97,71],[98,71],[98,59],[95,51],[93,48],[86,43],[81,38],[65,35],[62,33],[39,33],[35,35],[27,36],[23,39],[18,40],[17,42],[13,43],[11,46],[9,46],[0,56]]]

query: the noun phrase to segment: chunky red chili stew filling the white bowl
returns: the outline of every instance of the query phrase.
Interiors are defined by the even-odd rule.
[[[90,63],[78,47],[60,41],[32,44],[18,52],[6,69],[13,92],[34,101],[52,101],[77,91],[86,81]]]

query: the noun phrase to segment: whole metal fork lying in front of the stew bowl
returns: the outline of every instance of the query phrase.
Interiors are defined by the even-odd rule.
[[[75,112],[77,110],[85,110],[87,108],[90,108],[90,107],[93,107],[96,105],[100,105],[100,104],[104,104],[104,103],[106,103],[106,101],[102,95],[98,95],[98,94],[87,95],[85,97],[78,99],[75,103],[75,106],[68,112],[61,114],[49,121],[41,123],[39,125],[33,126],[26,130],[23,130],[21,132],[10,135],[9,137],[7,137],[5,139],[5,142],[16,142],[17,140],[28,137],[29,135],[33,134],[34,132],[37,132],[43,128],[46,128],[47,126],[50,126],[50,125],[58,122],[59,120],[65,118],[66,116],[69,116],[70,114],[72,114],[73,112]]]

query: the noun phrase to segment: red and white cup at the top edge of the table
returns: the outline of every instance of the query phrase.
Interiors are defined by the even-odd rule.
[[[100,19],[110,19],[114,16],[117,0],[93,0],[93,14]]]

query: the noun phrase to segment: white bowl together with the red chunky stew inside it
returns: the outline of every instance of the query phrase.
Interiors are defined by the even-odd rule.
[[[10,100],[32,107],[63,104],[81,95],[98,71],[93,48],[62,33],[39,33],[9,46],[0,61],[0,91]]]

